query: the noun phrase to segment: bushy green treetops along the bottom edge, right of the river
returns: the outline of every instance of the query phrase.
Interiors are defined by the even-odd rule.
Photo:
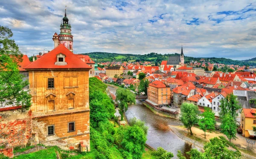
[[[235,150],[230,150],[229,146]],[[241,152],[232,143],[229,143],[224,136],[214,137],[204,145],[204,153],[197,149],[192,149],[187,154],[190,159],[240,159]],[[177,157],[179,159],[186,159],[180,151]]]

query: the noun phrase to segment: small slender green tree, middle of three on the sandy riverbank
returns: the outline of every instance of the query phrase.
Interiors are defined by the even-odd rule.
[[[212,112],[212,109],[205,107],[204,113],[201,114],[201,119],[199,119],[198,125],[201,130],[204,131],[204,138],[206,138],[206,131],[212,131],[215,130],[215,116],[214,112]]]

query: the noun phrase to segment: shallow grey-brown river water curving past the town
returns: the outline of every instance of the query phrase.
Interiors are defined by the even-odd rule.
[[[116,93],[116,88],[108,86],[108,89],[111,93]],[[125,112],[125,116],[128,122],[134,117],[144,121],[145,125],[148,126],[146,143],[155,149],[162,147],[172,152],[174,159],[177,159],[177,150],[180,150],[185,155],[191,148],[196,148],[193,144],[180,139],[169,129],[169,125],[182,125],[180,120],[154,114],[139,100],[136,100],[136,105],[129,106],[128,110]]]

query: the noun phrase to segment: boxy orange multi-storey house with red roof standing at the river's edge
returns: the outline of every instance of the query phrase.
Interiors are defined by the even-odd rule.
[[[161,81],[154,81],[148,85],[148,99],[157,105],[170,103],[170,88]]]

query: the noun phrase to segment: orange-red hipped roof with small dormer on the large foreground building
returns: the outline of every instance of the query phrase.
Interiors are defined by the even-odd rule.
[[[67,65],[55,65],[57,61],[56,55],[64,54]],[[48,52],[38,60],[35,60],[25,69],[50,69],[50,68],[91,68],[89,65],[81,61],[73,52],[69,51],[63,44],[58,45],[52,51]]]

